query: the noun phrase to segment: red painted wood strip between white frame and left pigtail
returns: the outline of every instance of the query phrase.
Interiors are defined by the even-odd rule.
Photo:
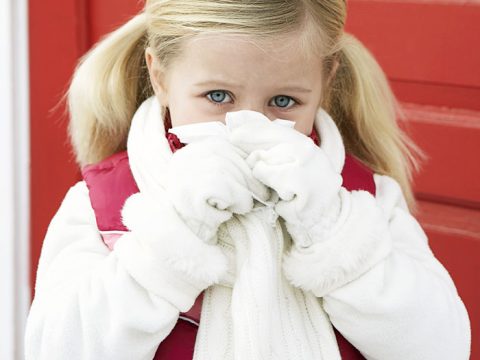
[[[47,226],[79,178],[63,108],[55,109],[85,46],[78,5],[73,0],[29,2],[32,291]]]

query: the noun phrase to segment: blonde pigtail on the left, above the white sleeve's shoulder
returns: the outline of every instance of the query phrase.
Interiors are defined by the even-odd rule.
[[[80,59],[67,93],[69,135],[80,165],[125,149],[135,110],[153,95],[146,21],[139,13]]]

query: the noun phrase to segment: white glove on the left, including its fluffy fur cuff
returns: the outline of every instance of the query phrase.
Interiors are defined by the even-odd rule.
[[[169,160],[165,192],[136,193],[122,209],[131,232],[115,244],[117,256],[143,287],[180,311],[228,276],[228,254],[216,245],[219,225],[249,212],[252,192],[269,194],[241,154],[219,137],[188,144]]]

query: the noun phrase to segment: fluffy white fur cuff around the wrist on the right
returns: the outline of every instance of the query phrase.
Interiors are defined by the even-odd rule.
[[[367,191],[340,192],[342,209],[327,240],[293,246],[283,270],[292,285],[321,297],[355,280],[392,249],[388,221]]]

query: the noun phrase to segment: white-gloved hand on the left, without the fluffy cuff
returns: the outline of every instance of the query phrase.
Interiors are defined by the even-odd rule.
[[[216,242],[218,226],[233,213],[253,208],[252,192],[269,198],[255,179],[246,154],[221,137],[208,137],[177,150],[168,170],[167,193],[192,231],[207,243]]]

